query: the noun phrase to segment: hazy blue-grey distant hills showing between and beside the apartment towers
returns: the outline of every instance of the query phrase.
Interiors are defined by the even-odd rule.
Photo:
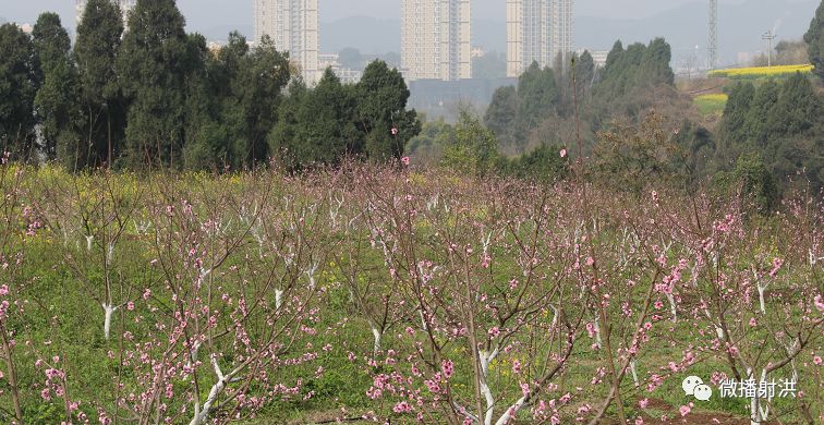
[[[647,42],[665,37],[672,46],[674,57],[691,54],[699,46],[699,56],[706,56],[707,3],[682,3],[651,16],[604,19],[577,16],[574,45],[591,50],[608,50],[616,39],[627,44]],[[739,51],[765,50],[761,35],[774,29],[779,39],[798,39],[810,26],[819,0],[746,0],[719,7],[720,57],[723,63],[735,63]],[[662,8],[659,7],[658,10]],[[506,23],[475,21],[473,44],[488,51],[506,51]],[[320,50],[339,51],[354,47],[363,52],[400,51],[400,21],[354,16],[322,24]]]

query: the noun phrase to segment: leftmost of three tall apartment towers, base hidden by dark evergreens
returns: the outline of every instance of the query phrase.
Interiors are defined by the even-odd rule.
[[[255,41],[264,35],[271,37],[275,47],[288,51],[290,60],[300,66],[307,84],[316,83],[318,70],[318,0],[254,0]]]

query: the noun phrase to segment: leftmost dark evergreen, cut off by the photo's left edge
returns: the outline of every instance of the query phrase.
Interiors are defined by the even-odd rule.
[[[0,26],[0,143],[24,160],[36,154],[38,70],[32,38],[15,24]]]

